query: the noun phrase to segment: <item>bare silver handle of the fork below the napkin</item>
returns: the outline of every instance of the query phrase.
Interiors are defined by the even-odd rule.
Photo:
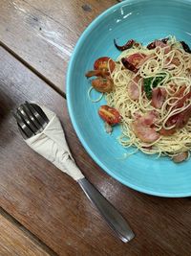
[[[135,235],[129,224],[117,211],[117,209],[104,198],[88,179],[81,178],[77,180],[86,196],[96,205],[101,216],[107,221],[109,226],[115,231],[117,237],[124,243],[132,240]]]

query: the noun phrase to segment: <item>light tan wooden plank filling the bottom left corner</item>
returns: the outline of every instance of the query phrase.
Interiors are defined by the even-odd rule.
[[[1,214],[0,211],[0,255],[2,256],[49,256],[29,233]]]

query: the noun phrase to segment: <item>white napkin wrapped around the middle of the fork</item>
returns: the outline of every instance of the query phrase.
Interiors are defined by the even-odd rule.
[[[74,158],[65,139],[64,130],[59,119],[48,108],[41,106],[50,122],[39,134],[25,140],[32,150],[38,152],[51,161],[62,172],[70,175],[74,180],[83,178],[81,171],[74,163]]]

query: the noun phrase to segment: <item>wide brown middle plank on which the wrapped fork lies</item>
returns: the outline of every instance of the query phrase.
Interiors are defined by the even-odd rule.
[[[147,196],[106,175],[78,142],[61,96],[3,49],[0,70],[0,205],[6,211],[59,255],[191,255],[190,198]],[[25,100],[57,113],[76,163],[135,231],[129,244],[117,240],[74,180],[22,141],[11,111]]]

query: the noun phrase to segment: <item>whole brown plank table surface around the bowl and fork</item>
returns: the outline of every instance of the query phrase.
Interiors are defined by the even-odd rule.
[[[0,0],[0,255],[191,255],[190,198],[157,198],[106,175],[78,141],[65,100],[79,35],[115,0]],[[131,223],[120,242],[79,186],[32,151],[11,111],[25,100],[59,116],[77,165]]]

